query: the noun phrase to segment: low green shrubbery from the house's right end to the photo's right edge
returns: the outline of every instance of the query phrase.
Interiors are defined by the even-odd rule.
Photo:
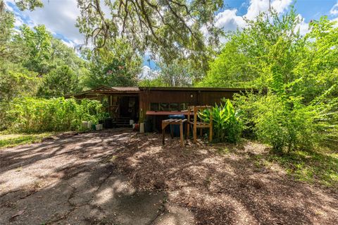
[[[337,99],[325,98],[332,91],[310,104],[271,91],[237,95],[244,135],[271,145],[276,152],[313,150],[327,141],[337,144]]]

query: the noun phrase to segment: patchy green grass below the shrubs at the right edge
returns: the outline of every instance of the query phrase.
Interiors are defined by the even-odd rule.
[[[286,169],[287,174],[299,181],[338,187],[338,152],[334,150],[296,151],[289,154],[269,153],[255,158],[255,165],[280,164]]]

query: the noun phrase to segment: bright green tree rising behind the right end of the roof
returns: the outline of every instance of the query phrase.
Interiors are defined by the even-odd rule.
[[[201,86],[272,87],[295,79],[306,39],[297,31],[301,20],[293,8],[279,16],[261,13],[243,30],[227,35],[220,55],[210,63]]]

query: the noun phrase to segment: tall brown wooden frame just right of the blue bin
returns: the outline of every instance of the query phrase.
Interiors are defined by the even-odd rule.
[[[190,126],[192,126],[192,133],[194,136],[194,143],[197,142],[197,128],[200,128],[200,135],[202,135],[203,128],[209,128],[209,141],[213,140],[213,114],[210,114],[210,123],[206,123],[204,121],[198,121],[198,113],[204,109],[211,110],[212,107],[209,106],[199,106],[199,107],[188,107],[188,121],[187,121],[187,139],[190,134]],[[190,114],[194,115],[193,120],[190,119]]]

